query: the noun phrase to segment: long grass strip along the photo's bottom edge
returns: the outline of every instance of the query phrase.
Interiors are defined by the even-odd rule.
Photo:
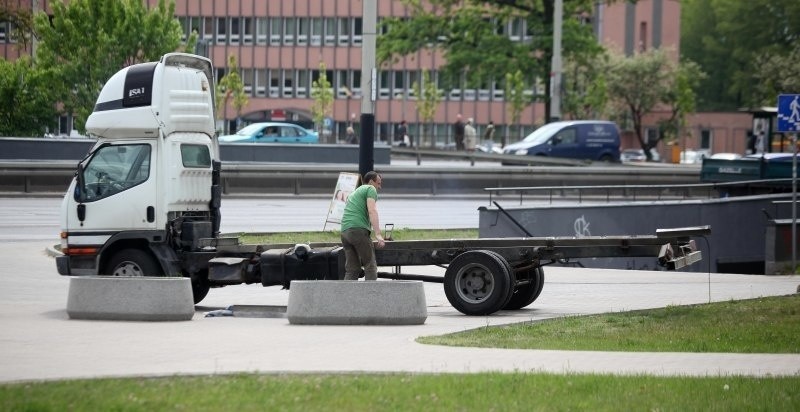
[[[0,386],[3,411],[791,411],[800,377],[285,374]]]

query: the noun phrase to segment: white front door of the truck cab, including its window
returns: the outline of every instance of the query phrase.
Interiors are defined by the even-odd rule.
[[[78,170],[75,207],[67,211],[71,230],[110,236],[120,230],[155,229],[155,163],[150,142],[100,146]]]

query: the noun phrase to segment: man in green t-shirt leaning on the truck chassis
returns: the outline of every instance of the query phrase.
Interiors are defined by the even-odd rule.
[[[376,247],[386,245],[381,236],[377,206],[382,183],[383,178],[378,172],[367,172],[364,183],[347,197],[341,235],[345,256],[344,280],[358,280],[361,268],[364,268],[365,280],[378,279],[378,264],[370,235],[375,233]]]

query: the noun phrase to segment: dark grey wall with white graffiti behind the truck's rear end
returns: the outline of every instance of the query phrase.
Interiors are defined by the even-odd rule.
[[[764,211],[777,210],[773,201],[790,194],[742,196],[691,201],[628,202],[613,204],[561,204],[508,207],[498,204],[533,236],[655,235],[656,229],[710,225],[708,244],[695,239],[703,260],[683,270],[692,272],[764,273],[765,232],[770,217]],[[772,212],[770,212],[770,215]],[[775,216],[772,216],[775,218]],[[479,212],[479,235],[488,237],[525,236],[497,208]],[[596,268],[654,269],[655,259],[581,259],[580,264]]]

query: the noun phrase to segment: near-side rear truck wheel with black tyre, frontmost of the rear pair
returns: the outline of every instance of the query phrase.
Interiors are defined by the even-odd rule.
[[[511,291],[511,275],[506,265],[486,250],[472,250],[456,256],[445,271],[447,300],[465,315],[497,312],[506,304]]]

